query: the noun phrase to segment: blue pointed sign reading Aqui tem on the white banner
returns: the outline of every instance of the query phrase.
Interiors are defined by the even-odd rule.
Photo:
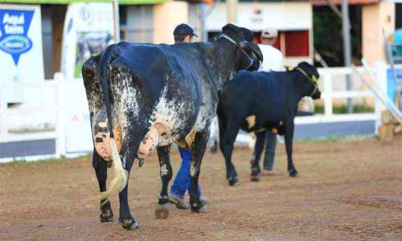
[[[27,37],[35,11],[0,10],[0,49],[11,54],[15,66],[18,65],[22,53],[32,48],[32,40]]]

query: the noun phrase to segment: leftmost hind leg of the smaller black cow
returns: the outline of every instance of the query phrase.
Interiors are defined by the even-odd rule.
[[[226,179],[229,181],[230,186],[239,185],[239,178],[237,175],[237,171],[235,166],[232,163],[232,152],[233,145],[236,140],[237,133],[239,132],[240,127],[238,125],[234,125],[234,123],[227,125],[227,129],[224,133],[221,133],[221,142],[220,148],[225,158],[226,164]]]

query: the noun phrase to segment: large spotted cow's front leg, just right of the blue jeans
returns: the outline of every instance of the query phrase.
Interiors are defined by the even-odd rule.
[[[209,130],[205,132],[196,132],[194,142],[191,145],[191,163],[190,163],[190,206],[193,213],[209,213],[208,208],[199,200],[198,196],[198,177],[203,160],[205,150],[207,148],[207,141]]]

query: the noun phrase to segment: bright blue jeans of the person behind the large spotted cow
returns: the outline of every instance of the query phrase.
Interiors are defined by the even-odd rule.
[[[180,165],[180,169],[176,174],[176,178],[171,185],[170,193],[184,198],[184,194],[186,190],[190,192],[190,160],[191,160],[191,152],[190,150],[184,149],[179,146],[180,156],[182,157],[182,164]],[[201,187],[198,183],[198,197],[201,197]]]

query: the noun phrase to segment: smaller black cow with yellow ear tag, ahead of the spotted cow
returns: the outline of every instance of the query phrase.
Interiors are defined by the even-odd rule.
[[[274,129],[285,136],[288,171],[291,176],[297,175],[292,160],[294,118],[303,96],[320,98],[318,78],[317,68],[302,62],[296,69],[286,72],[240,71],[227,82],[218,104],[218,119],[220,149],[225,158],[229,185],[238,183],[232,151],[239,129],[257,135],[251,179],[259,180],[265,130]]]

